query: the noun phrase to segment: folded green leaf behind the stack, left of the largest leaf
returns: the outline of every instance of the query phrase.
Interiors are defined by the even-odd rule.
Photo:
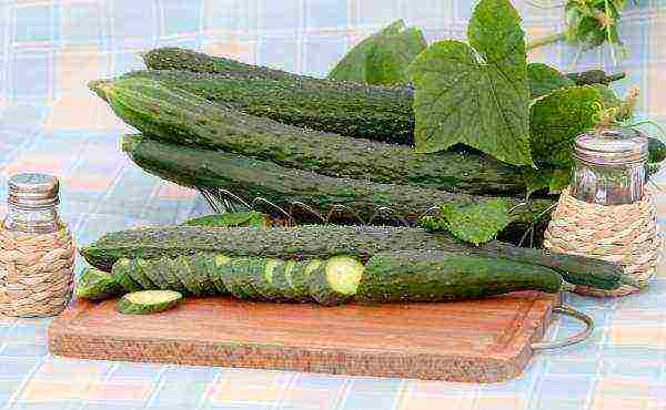
[[[410,63],[425,48],[421,30],[407,28],[398,20],[350,50],[329,79],[380,85],[406,84]]]

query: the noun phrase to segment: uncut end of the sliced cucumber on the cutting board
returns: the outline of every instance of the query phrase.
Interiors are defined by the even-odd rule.
[[[370,258],[357,301],[446,301],[517,290],[557,293],[562,276],[547,267],[442,252],[395,252]]]

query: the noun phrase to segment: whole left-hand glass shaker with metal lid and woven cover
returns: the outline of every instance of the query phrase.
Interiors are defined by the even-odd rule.
[[[54,316],[72,295],[74,243],[58,211],[59,181],[26,173],[9,178],[0,230],[0,310],[19,317]]]

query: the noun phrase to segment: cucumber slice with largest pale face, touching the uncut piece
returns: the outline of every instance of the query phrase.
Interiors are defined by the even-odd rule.
[[[351,256],[334,256],[310,275],[310,296],[324,306],[342,305],[356,295],[363,264]]]

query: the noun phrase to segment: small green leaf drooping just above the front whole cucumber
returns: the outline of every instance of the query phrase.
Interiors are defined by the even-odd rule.
[[[437,215],[421,218],[421,227],[428,230],[447,230],[458,239],[474,245],[492,240],[511,221],[508,202],[488,199],[473,205],[445,204]]]

